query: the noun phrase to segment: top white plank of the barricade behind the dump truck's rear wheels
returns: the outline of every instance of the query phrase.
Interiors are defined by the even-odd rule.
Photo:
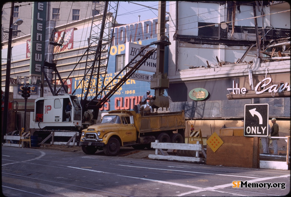
[[[180,143],[158,143],[152,142],[152,148],[161,148],[161,149],[177,149],[177,150],[198,150],[202,151],[202,144],[180,144]]]

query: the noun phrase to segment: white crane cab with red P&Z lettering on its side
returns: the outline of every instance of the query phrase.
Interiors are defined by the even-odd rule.
[[[71,113],[66,113],[69,102]],[[77,96],[40,97],[35,100],[34,109],[30,115],[31,129],[74,130],[82,126],[82,108]]]

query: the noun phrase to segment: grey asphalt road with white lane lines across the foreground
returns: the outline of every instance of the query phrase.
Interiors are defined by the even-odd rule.
[[[2,192],[17,197],[284,196],[290,192],[290,170],[148,159],[146,154],[153,152],[122,149],[119,156],[110,157],[102,151],[86,155],[78,149],[2,146]],[[233,187],[237,181],[257,187]]]

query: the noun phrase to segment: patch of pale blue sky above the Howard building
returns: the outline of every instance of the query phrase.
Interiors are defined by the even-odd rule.
[[[133,3],[129,3],[133,2]],[[158,10],[147,8],[149,6],[158,9],[159,1],[120,1],[118,5],[118,12],[116,21],[119,24],[130,24],[139,21],[138,15],[140,15],[140,21],[148,20],[158,17]],[[141,5],[136,5],[141,4]],[[166,11],[169,11],[169,2],[166,1]]]

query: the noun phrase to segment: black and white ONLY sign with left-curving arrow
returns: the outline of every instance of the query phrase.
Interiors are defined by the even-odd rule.
[[[269,125],[269,104],[244,105],[244,136],[267,137]]]

